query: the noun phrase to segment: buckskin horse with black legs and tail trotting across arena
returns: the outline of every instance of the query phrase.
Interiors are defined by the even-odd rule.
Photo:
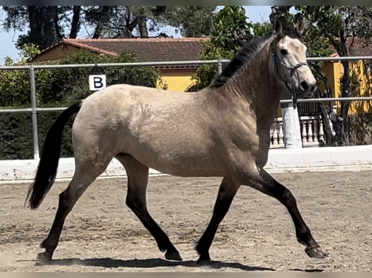
[[[246,42],[207,87],[193,93],[114,84],[65,109],[51,125],[25,206],[37,209],[56,177],[64,126],[72,126],[75,170],[59,194],[51,230],[37,254],[50,263],[66,217],[85,190],[116,158],[127,173],[126,205],[151,233],[165,258],[182,261],[147,208],[149,169],[178,177],[221,177],[211,219],[196,242],[197,263],[209,249],[241,185],[280,201],[293,220],[297,241],[310,258],[328,256],[301,216],[297,201],[264,166],[270,127],[280,99],[312,97],[318,83],[306,62],[304,19],[277,20],[270,35]]]

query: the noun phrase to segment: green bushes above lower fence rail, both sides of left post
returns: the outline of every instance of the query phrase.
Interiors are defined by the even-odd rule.
[[[30,52],[30,53],[28,53]],[[26,64],[26,58],[31,53],[37,53],[33,48],[25,47],[18,64]],[[62,59],[60,64],[77,63],[113,63],[113,62],[138,62],[134,54],[123,53],[119,57],[99,56],[88,50]],[[6,64],[14,62],[6,59]],[[46,64],[53,64],[47,62]],[[110,68],[67,68],[67,69],[42,69],[35,71],[35,87],[37,105],[64,106],[77,99],[85,98],[90,94],[89,74],[106,74],[106,83],[128,83],[147,87],[155,87],[159,77],[158,72],[152,67],[110,67]],[[30,80],[27,70],[3,71],[0,82],[0,107],[30,107]]]

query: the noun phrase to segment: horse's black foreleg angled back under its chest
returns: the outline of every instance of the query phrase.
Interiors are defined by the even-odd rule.
[[[200,255],[198,263],[210,260],[209,248],[212,245],[217,229],[222,219],[227,214],[239,187],[240,185],[237,185],[232,180],[223,178],[213,209],[212,218],[195,247],[196,251],[198,251]]]

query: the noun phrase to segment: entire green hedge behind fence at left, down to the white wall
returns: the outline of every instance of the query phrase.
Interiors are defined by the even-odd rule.
[[[26,64],[26,58],[33,57],[38,51],[34,46],[25,46],[24,55],[18,64]],[[138,62],[132,53],[123,53],[119,57],[99,56],[89,51],[62,59],[61,64]],[[14,62],[6,59],[8,65]],[[48,62],[51,63],[51,62]],[[53,62],[54,63],[54,62]],[[35,71],[35,87],[38,107],[67,107],[76,100],[85,98],[89,91],[89,74],[106,74],[107,86],[127,83],[155,87],[159,78],[152,67],[111,67],[111,68],[72,68],[43,69]],[[2,71],[0,82],[0,107],[30,108],[30,81],[27,70]],[[60,112],[40,112],[38,117],[39,148],[51,124]],[[0,121],[0,159],[33,158],[31,114],[1,114]],[[62,157],[72,155],[70,121],[66,126],[62,144]]]

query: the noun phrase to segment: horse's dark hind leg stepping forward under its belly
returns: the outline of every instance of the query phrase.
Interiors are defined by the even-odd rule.
[[[178,250],[173,246],[167,234],[159,227],[147,209],[146,188],[149,181],[149,168],[128,154],[119,154],[115,158],[120,161],[127,172],[128,192],[126,204],[152,234],[160,251],[166,251],[165,258],[172,261],[182,261]]]

